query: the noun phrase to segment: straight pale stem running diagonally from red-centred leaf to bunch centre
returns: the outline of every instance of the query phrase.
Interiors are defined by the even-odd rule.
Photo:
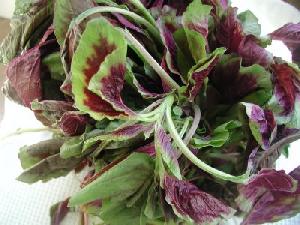
[[[167,72],[153,59],[153,57],[147,52],[147,50],[141,45],[141,43],[131,35],[130,32],[124,31],[127,40],[136,48],[136,50],[144,57],[149,65],[155,70],[160,78],[169,84],[173,89],[179,90],[180,86],[167,74]]]

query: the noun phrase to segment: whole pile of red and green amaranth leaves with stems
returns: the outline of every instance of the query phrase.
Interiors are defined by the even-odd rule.
[[[299,212],[300,167],[274,164],[299,138],[300,24],[261,37],[226,0],[17,0],[11,23],[4,92],[54,131],[21,148],[18,180],[85,174],[53,225],[71,209],[109,225]]]

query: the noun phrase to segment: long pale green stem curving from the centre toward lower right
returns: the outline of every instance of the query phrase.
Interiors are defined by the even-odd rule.
[[[197,158],[189,150],[189,148],[185,145],[183,140],[180,138],[180,136],[179,136],[179,134],[178,134],[178,132],[177,132],[175,126],[174,126],[174,123],[172,121],[171,107],[172,107],[173,102],[174,102],[173,96],[168,96],[168,106],[167,106],[167,109],[166,109],[167,126],[168,126],[168,130],[170,132],[171,137],[173,138],[175,144],[178,146],[178,148],[180,149],[182,154],[185,155],[185,157],[187,157],[192,163],[194,163],[200,169],[202,169],[203,171],[211,174],[214,177],[217,177],[217,178],[222,179],[222,180],[228,180],[228,181],[231,181],[231,182],[234,182],[234,183],[244,183],[245,181],[247,181],[247,179],[248,179],[247,174],[243,174],[241,176],[236,177],[236,176],[224,173],[220,170],[217,170],[217,169],[207,165],[205,162],[203,162],[202,160]]]

